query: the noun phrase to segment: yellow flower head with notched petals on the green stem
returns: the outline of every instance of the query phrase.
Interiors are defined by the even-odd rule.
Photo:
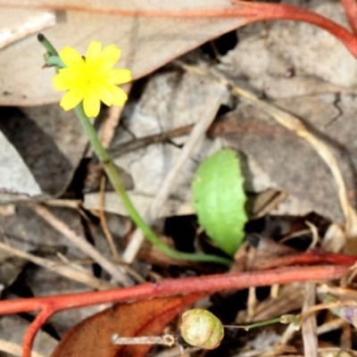
[[[120,58],[120,49],[110,45],[102,51],[102,44],[92,41],[86,57],[71,47],[64,47],[59,55],[65,68],[54,76],[56,90],[66,90],[60,105],[65,111],[75,108],[83,100],[84,112],[96,117],[100,102],[122,106],[128,95],[118,85],[131,80],[131,72],[112,67]]]

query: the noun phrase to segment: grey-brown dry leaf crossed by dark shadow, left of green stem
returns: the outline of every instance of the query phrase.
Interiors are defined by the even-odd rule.
[[[19,148],[42,190],[61,195],[87,148],[87,136],[75,113],[63,112],[59,105],[22,108],[22,112],[26,114],[22,121],[29,124],[6,130],[12,144]]]

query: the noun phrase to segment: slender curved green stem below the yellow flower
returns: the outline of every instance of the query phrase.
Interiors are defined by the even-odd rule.
[[[96,135],[96,131],[92,123],[89,121],[86,113],[83,110],[83,105],[79,104],[75,108],[75,112],[79,117],[79,121],[82,124],[83,129],[85,130],[87,137],[89,139],[90,144],[92,145],[96,156],[99,161],[103,164],[105,173],[107,174],[109,180],[112,183],[112,187],[114,187],[117,195],[120,196],[121,202],[123,203],[125,209],[127,210],[131,220],[140,228],[145,237],[158,249],[169,255],[171,258],[178,260],[187,260],[193,262],[216,262],[220,264],[230,265],[231,261],[227,258],[220,257],[218,255],[212,254],[201,254],[201,253],[182,253],[171,249],[169,246],[162,243],[159,237],[157,237],[154,231],[146,224],[145,220],[139,215],[137,209],[134,207],[133,203],[131,203],[129,195],[120,179],[119,173],[116,170],[112,159],[109,154],[104,149],[101,141]]]

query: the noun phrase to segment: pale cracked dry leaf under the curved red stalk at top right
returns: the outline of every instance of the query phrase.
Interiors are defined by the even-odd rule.
[[[338,2],[307,4],[348,28]],[[238,29],[239,43],[221,59],[230,78],[273,98],[351,92],[357,85],[357,62],[336,37],[305,22],[274,21]]]

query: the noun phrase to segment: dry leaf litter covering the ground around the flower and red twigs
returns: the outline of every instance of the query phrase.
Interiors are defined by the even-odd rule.
[[[55,6],[37,3],[44,9],[46,6]],[[216,2],[213,6],[218,4]],[[104,10],[107,5],[103,4]],[[226,3],[224,5],[228,6]],[[66,6],[69,5],[62,4],[62,8]],[[309,7],[346,26],[343,8],[339,4],[312,1]],[[116,165],[129,176],[131,195],[136,197],[134,202],[139,212],[152,222],[162,236],[170,225],[170,217],[180,219],[179,226],[176,226],[179,241],[170,237],[162,239],[185,249],[216,249],[203,237],[197,226],[190,182],[203,158],[228,146],[243,152],[240,157],[245,181],[249,181],[245,189],[250,203],[257,202],[268,191],[274,192],[273,195],[288,195],[288,200],[282,203],[277,201],[273,209],[270,208],[269,215],[250,222],[253,232],[275,240],[284,239],[300,249],[297,251],[299,254],[311,244],[311,227],[317,228],[316,238],[322,240],[321,245],[324,245],[324,236],[331,235],[328,227],[335,226],[339,227],[340,233],[333,235],[335,240],[336,237],[339,239],[339,243],[334,243],[334,252],[354,253],[356,222],[353,208],[356,203],[353,199],[353,119],[356,89],[353,73],[356,72],[356,62],[335,37],[303,22],[257,23],[237,30],[238,44],[228,54],[217,54],[219,42],[212,42],[209,46],[216,54],[213,60],[200,48],[180,58],[180,62],[172,62],[155,71],[180,54],[220,36],[222,32],[240,27],[244,21],[220,20],[214,25],[212,21],[201,21],[200,31],[192,36],[192,26],[194,23],[197,25],[198,20],[185,23],[178,19],[162,19],[157,22],[157,19],[129,17],[120,24],[121,33],[127,34],[126,37],[117,35],[112,38],[112,26],[118,26],[114,25],[117,18],[105,13],[94,14],[92,10],[90,6],[87,10],[84,6],[82,12],[68,10],[64,18],[63,13],[62,17],[56,15],[55,25],[49,21],[41,26],[54,26],[49,30],[48,37],[53,37],[51,39],[59,46],[67,45],[66,41],[76,45],[73,44],[72,34],[79,23],[86,24],[84,28],[82,26],[81,44],[86,42],[83,38],[87,39],[89,33],[100,29],[98,37],[109,38],[109,42],[123,42],[122,45],[120,43],[123,54],[128,55],[123,60],[129,62],[130,58],[134,58],[135,78],[152,73],[131,88],[129,103],[124,111],[114,113],[112,124],[108,125],[112,125],[115,131],[102,129],[103,135],[109,131],[109,137],[105,138],[107,145],[111,142],[114,146],[125,145],[133,140],[206,120],[205,126],[196,130],[198,134],[195,140],[191,139],[191,145],[187,145],[190,140],[187,136],[171,137],[115,157]],[[36,12],[33,15],[39,16],[40,13]],[[22,18],[26,19],[24,15],[25,12]],[[2,16],[6,16],[5,12]],[[92,21],[84,20],[88,16]],[[168,23],[170,29],[167,28]],[[4,26],[8,26],[7,23]],[[61,40],[55,35],[55,31],[60,29]],[[135,40],[129,41],[128,34],[132,34]],[[4,150],[0,155],[0,161],[3,162],[0,200],[3,204],[15,204],[14,212],[10,210],[10,214],[0,217],[1,246],[10,245],[13,248],[12,251],[0,251],[2,268],[7,267],[0,281],[2,300],[76,294],[93,291],[94,288],[105,290],[118,284],[131,286],[142,281],[154,283],[159,278],[179,279],[219,273],[221,270],[217,267],[187,266],[177,261],[162,265],[165,257],[160,252],[153,255],[142,247],[141,253],[139,251],[139,255],[136,255],[139,245],[129,253],[125,250],[126,242],[134,241],[137,232],[120,207],[120,201],[110,192],[111,187],[102,185],[100,192],[90,194],[83,191],[86,165],[90,161],[95,162],[95,159],[90,150],[86,152],[87,139],[71,112],[63,114],[56,104],[49,104],[58,100],[49,87],[50,77],[46,79],[51,75],[51,70],[38,71],[38,50],[33,37],[28,35],[21,41],[13,38],[13,44],[4,47],[0,54],[0,74],[4,79],[2,104],[30,106],[21,107],[21,112],[1,110],[4,113],[0,128]],[[158,48],[155,54],[153,41],[156,41],[155,48]],[[10,58],[23,52],[29,54],[26,58],[28,66],[21,59],[10,61]],[[13,67],[10,68],[10,65]],[[12,72],[21,75],[10,76]],[[41,84],[38,84],[38,80]],[[24,87],[27,88],[26,95]],[[269,103],[265,97],[269,98]],[[111,120],[104,119],[104,122]],[[204,137],[209,126],[209,136]],[[175,166],[178,161],[180,164]],[[173,167],[176,169],[173,170]],[[172,172],[170,179],[169,172]],[[153,213],[154,196],[165,182],[168,190],[156,203],[158,205]],[[46,208],[24,203],[33,202],[35,198],[62,207],[49,207],[46,213]],[[83,205],[75,203],[78,201]],[[44,216],[47,220],[40,218]],[[49,217],[53,220],[48,220]],[[307,225],[306,221],[313,224]],[[107,243],[105,227],[112,237],[112,248]],[[187,228],[191,230],[189,235],[185,230]],[[242,246],[237,256],[243,262],[255,259],[255,269],[259,270],[259,264],[263,265],[262,257],[254,258],[259,246],[252,243],[252,237],[248,240],[251,246]],[[258,241],[261,245],[264,238],[259,236]],[[267,248],[269,246],[270,249]],[[44,247],[54,248],[55,253],[46,252],[46,249],[43,253],[41,249]],[[277,256],[289,259],[290,254],[295,254],[289,250],[280,251],[272,243],[266,243],[264,247],[264,260],[268,261]],[[131,262],[129,267],[113,256],[115,250],[119,256],[123,256],[124,261]],[[36,260],[36,257],[42,261]],[[249,264],[237,262],[233,269],[244,271],[247,269],[245,265],[247,267]],[[76,275],[76,270],[83,274],[83,278],[79,273]],[[348,278],[346,276],[339,287],[345,299],[339,295],[337,303],[341,300],[346,305],[353,299],[348,295],[349,290],[353,290],[353,278]],[[336,294],[334,287],[330,286],[330,295]],[[206,307],[216,312],[228,325],[269,320],[295,311],[304,311],[306,319],[303,320],[301,333],[292,326],[285,328],[276,325],[258,331],[252,329],[249,333],[231,329],[227,333],[227,343],[207,355],[264,355],[262,353],[267,352],[270,355],[315,355],[318,350],[320,355],[332,355],[328,353],[334,353],[336,348],[343,348],[344,355],[355,355],[352,338],[355,332],[336,317],[351,315],[353,308],[337,306],[335,311],[334,308],[325,311],[319,315],[318,326],[313,315],[309,315],[317,304],[317,288],[313,283],[291,283],[271,286],[271,289],[257,288],[256,291],[251,288],[249,293],[230,289],[224,294],[212,295]],[[326,303],[326,296],[321,296],[320,293],[320,302]],[[175,316],[202,297],[186,295],[148,299],[141,303],[134,301],[110,306],[109,310],[97,314],[95,312],[107,308],[108,304],[63,311],[49,320],[44,328],[47,334],[45,342],[34,348],[38,353],[49,355],[54,349],[54,340],[62,338],[53,356],[69,355],[68,348],[73,349],[73,355],[81,355],[86,351],[86,345],[90,353],[95,355],[112,355],[112,350],[121,355],[146,355],[147,346],[141,350],[139,347],[115,347],[111,343],[112,334],[160,335],[171,320],[173,323],[170,328],[177,332]],[[176,304],[172,310],[171,303]],[[84,320],[88,316],[91,317]],[[103,317],[106,320],[102,321]],[[139,317],[143,320],[139,320]],[[3,332],[0,339],[14,344],[4,347],[0,344],[4,356],[9,355],[6,353],[19,354],[16,346],[21,345],[24,330],[33,320],[33,315],[19,319],[17,315],[1,319]],[[9,333],[9,327],[15,323],[21,328],[16,328],[16,333]],[[136,329],[135,333],[133,328]],[[326,335],[327,331],[329,335]],[[99,332],[104,335],[100,337],[104,347],[96,344]],[[268,343],[268,340],[273,342]],[[87,344],[87,341],[91,343]],[[155,347],[151,355],[161,350]],[[90,353],[86,351],[85,355]],[[194,352],[192,355],[199,354]]]

